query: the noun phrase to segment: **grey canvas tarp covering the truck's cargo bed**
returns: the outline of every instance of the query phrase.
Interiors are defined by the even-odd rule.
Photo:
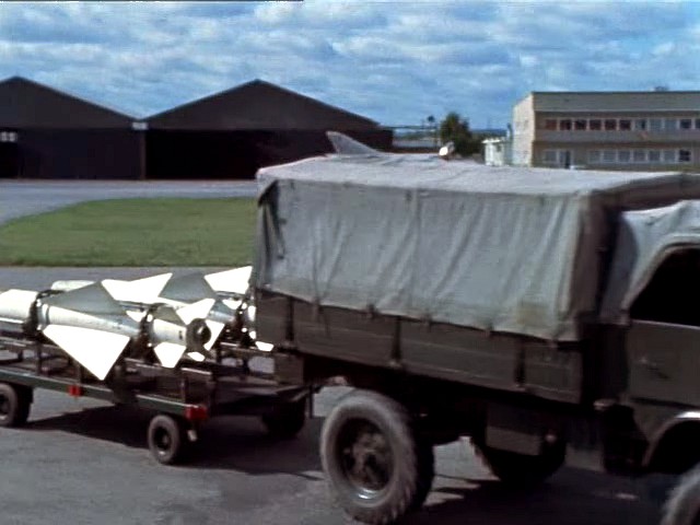
[[[700,196],[687,174],[425,155],[314,158],[258,182],[258,289],[562,341],[597,314],[610,218]]]

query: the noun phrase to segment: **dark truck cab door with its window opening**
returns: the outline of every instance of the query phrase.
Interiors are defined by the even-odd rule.
[[[700,406],[700,252],[666,258],[630,310],[629,394]]]

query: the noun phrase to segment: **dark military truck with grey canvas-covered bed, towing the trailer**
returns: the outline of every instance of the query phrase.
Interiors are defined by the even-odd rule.
[[[357,388],[320,439],[352,517],[419,508],[470,436],[510,483],[690,472],[664,523],[700,523],[700,176],[361,152],[258,180],[258,339]]]

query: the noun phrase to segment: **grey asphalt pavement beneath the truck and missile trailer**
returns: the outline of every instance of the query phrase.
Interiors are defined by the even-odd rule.
[[[10,268],[0,269],[0,289],[153,272]],[[27,428],[0,429],[0,523],[353,523],[335,504],[317,456],[323,417],[343,393],[336,387],[318,394],[316,417],[291,441],[267,438],[257,419],[213,420],[189,465],[165,467],[145,447],[145,412],[38,392]],[[562,469],[542,487],[515,491],[493,480],[466,441],[438,447],[436,457],[433,491],[409,524],[652,525],[658,520],[639,481]]]

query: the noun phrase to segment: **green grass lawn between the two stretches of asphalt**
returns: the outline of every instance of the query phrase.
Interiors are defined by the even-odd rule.
[[[254,199],[84,202],[0,226],[0,266],[242,266]]]

